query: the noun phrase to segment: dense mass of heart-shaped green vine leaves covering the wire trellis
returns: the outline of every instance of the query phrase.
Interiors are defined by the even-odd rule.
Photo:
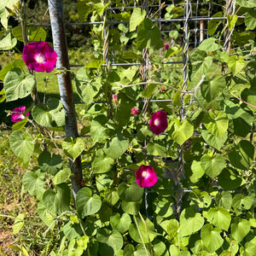
[[[49,255],[250,255],[256,227],[255,63],[247,54],[255,48],[253,2],[236,2],[242,21],[237,13],[210,20],[210,38],[188,51],[186,88],[184,73],[165,64],[181,60],[183,48],[176,42],[161,53],[164,43],[154,16],[139,8],[117,12],[113,21],[128,23],[112,26],[106,22],[108,4],[77,3],[77,19],[101,21],[91,26],[94,54],[76,73],[61,73],[72,74],[84,102],[79,117],[86,124],[80,134],[91,137],[53,138],[67,125],[56,98],[34,102],[31,116],[13,125],[9,137],[9,148],[28,169],[23,188],[37,198],[45,232],[60,230],[60,247]],[[168,5],[165,12],[166,19],[179,17],[183,5]],[[183,27],[174,26],[175,40],[176,29]],[[27,35],[32,41],[47,38],[41,28],[28,28]],[[7,33],[0,41],[1,49],[23,40],[20,26],[12,28],[12,36]],[[117,50],[107,56],[107,49]],[[110,60],[145,64],[112,67]],[[35,77],[24,67],[16,60],[0,72],[7,101],[34,93]],[[139,113],[132,115],[131,108]],[[167,113],[168,127],[155,136],[149,120],[160,109]],[[33,137],[23,131],[30,123],[38,129]],[[83,181],[73,173],[80,158]],[[135,172],[142,165],[157,174],[152,188],[137,184]],[[16,218],[15,233],[24,229],[24,219]]]

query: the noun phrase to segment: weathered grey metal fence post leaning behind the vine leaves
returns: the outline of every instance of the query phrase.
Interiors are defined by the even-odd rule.
[[[58,55],[56,68],[60,71],[58,74],[58,83],[60,88],[61,102],[65,111],[66,125],[65,131],[67,137],[79,137],[75,107],[73,102],[73,88],[71,75],[69,72],[69,61],[67,51],[67,38],[65,31],[63,4],[61,0],[48,0],[49,18],[52,30],[52,37],[55,52]],[[73,196],[76,197],[81,188],[82,165],[81,158],[70,160],[73,172],[72,189]]]

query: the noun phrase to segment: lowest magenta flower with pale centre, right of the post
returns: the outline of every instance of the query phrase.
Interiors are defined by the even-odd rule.
[[[140,187],[152,187],[157,182],[157,175],[152,166],[140,166],[136,173],[136,182]]]

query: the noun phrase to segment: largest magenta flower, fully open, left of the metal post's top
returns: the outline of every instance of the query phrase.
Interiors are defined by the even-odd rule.
[[[44,41],[26,44],[22,52],[26,66],[38,72],[51,72],[55,68],[57,56],[55,50]]]

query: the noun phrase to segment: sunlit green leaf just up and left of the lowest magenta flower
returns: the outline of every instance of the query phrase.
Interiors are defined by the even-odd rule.
[[[120,132],[118,132],[117,137],[113,137],[111,142],[105,143],[103,150],[109,157],[116,160],[125,153],[128,146],[129,139],[126,139]]]

